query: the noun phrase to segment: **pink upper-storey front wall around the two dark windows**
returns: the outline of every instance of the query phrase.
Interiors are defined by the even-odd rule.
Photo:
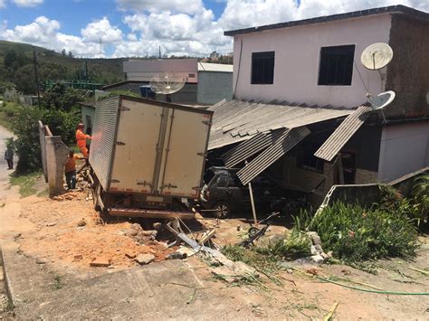
[[[234,86],[238,99],[289,102],[356,107],[365,102],[367,90],[359,77],[360,71],[369,91],[384,90],[377,71],[367,71],[360,63],[360,55],[373,42],[388,42],[391,16],[347,19],[324,24],[310,24],[248,33],[234,37]],[[243,41],[243,50],[242,47]],[[351,86],[318,86],[320,47],[355,44],[355,68]],[[240,61],[240,52],[242,58]],[[252,52],[275,52],[274,83],[252,85]],[[381,70],[386,73],[386,68]],[[369,82],[368,82],[369,80]]]

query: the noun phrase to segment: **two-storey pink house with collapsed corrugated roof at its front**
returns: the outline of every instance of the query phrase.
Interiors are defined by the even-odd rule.
[[[243,184],[265,171],[323,195],[429,165],[429,14],[395,5],[224,34],[234,37],[234,99],[211,108],[209,149],[243,167]],[[360,62],[374,42],[394,52],[380,71]],[[366,98],[385,90],[396,91],[386,123]]]

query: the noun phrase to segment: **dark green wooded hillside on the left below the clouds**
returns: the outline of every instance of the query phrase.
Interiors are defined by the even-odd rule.
[[[88,66],[88,80],[110,84],[124,80],[119,59],[75,58],[72,52],[54,52],[26,43],[0,41],[0,93],[15,85],[24,93],[34,93],[33,48],[35,48],[39,81],[85,79],[84,63]]]

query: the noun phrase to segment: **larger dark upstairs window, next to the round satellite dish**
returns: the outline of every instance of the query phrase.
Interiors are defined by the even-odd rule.
[[[350,86],[355,45],[322,47],[319,61],[319,86]]]

